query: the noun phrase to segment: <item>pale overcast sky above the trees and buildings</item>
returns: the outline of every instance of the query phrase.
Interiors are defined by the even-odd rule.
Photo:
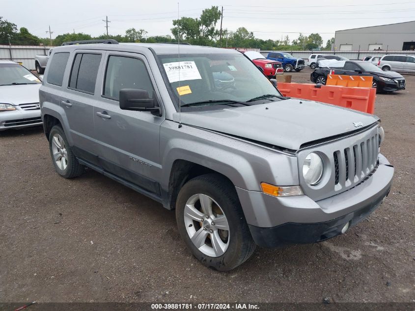
[[[99,35],[106,32],[106,16],[110,34],[125,34],[134,27],[153,36],[171,35],[178,14],[195,18],[204,8],[218,5],[223,6],[224,29],[245,27],[257,38],[273,40],[317,32],[324,45],[336,30],[415,20],[414,0],[218,1],[179,0],[178,5],[177,0],[1,0],[0,16],[39,37],[49,37],[49,25],[52,38],[73,31]]]

